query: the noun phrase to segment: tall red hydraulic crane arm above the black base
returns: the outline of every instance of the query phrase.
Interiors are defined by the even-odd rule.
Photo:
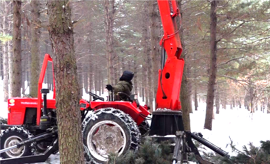
[[[161,70],[159,70],[156,107],[157,109],[180,110],[179,94],[184,68],[184,60],[180,58],[182,46],[176,23],[176,17],[179,16],[180,18],[180,11],[176,0],[157,0],[157,2],[164,35],[160,41],[162,59]],[[166,62],[165,54],[167,54]]]

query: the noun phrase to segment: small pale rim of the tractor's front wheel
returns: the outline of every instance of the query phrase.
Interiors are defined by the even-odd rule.
[[[10,136],[10,137],[8,137],[8,139],[4,143],[4,149],[5,148],[8,148],[10,146],[16,145],[20,141],[22,141],[22,138],[20,138],[20,137],[18,137],[16,135]],[[6,154],[9,157],[14,158],[14,157],[20,157],[20,156],[22,156],[23,153],[24,153],[24,151],[25,151],[25,146],[22,146],[20,148],[15,148],[15,149],[6,151]]]

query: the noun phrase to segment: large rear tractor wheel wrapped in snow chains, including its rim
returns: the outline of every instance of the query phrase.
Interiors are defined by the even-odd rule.
[[[87,163],[106,164],[109,153],[125,155],[137,151],[140,130],[134,120],[123,111],[102,108],[85,118],[82,124],[83,144]]]

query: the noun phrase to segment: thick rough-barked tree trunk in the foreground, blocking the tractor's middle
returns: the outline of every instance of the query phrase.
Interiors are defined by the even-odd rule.
[[[61,164],[84,164],[79,84],[68,0],[48,0]],[[65,6],[63,6],[63,4]]]

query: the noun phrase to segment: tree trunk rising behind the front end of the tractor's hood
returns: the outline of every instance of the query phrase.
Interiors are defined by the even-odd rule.
[[[13,69],[11,97],[21,97],[21,0],[13,0]]]

